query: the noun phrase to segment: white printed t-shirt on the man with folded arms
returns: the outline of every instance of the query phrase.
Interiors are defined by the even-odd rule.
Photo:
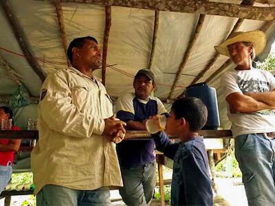
[[[268,71],[250,69],[228,71],[221,78],[225,98],[231,93],[268,92],[275,89],[275,78]],[[253,113],[230,113],[228,118],[232,122],[233,137],[252,133],[270,133],[275,131],[275,110],[265,109]]]

